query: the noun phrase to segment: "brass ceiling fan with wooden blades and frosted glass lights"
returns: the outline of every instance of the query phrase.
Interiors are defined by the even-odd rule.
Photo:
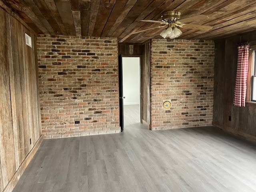
[[[163,24],[164,26],[158,26],[158,27],[153,27],[153,28],[148,28],[145,30],[141,30],[138,32],[132,32],[131,34],[136,34],[140,32],[144,32],[147,30],[152,30],[156,28],[163,28],[168,26],[167,29],[163,30],[160,33],[160,36],[163,38],[171,38],[174,39],[176,37],[179,37],[182,34],[182,31],[178,29],[177,27],[186,27],[190,29],[198,29],[198,30],[211,30],[212,26],[204,26],[204,25],[194,25],[194,24],[186,24],[186,22],[192,22],[195,20],[201,20],[201,19],[208,19],[209,17],[206,15],[197,15],[197,16],[192,16],[188,17],[185,19],[180,19],[180,12],[179,11],[167,11],[162,14],[162,21],[155,21],[155,20],[141,20],[144,22],[152,22],[152,23],[159,23]]]

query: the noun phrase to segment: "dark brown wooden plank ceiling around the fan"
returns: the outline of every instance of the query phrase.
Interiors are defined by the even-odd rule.
[[[167,10],[181,18],[205,14],[191,22],[213,26],[210,31],[182,28],[180,39],[214,40],[256,30],[255,0],[2,0],[38,34],[117,37],[119,42],[142,43],[159,36],[163,28],[140,20],[161,20]]]

